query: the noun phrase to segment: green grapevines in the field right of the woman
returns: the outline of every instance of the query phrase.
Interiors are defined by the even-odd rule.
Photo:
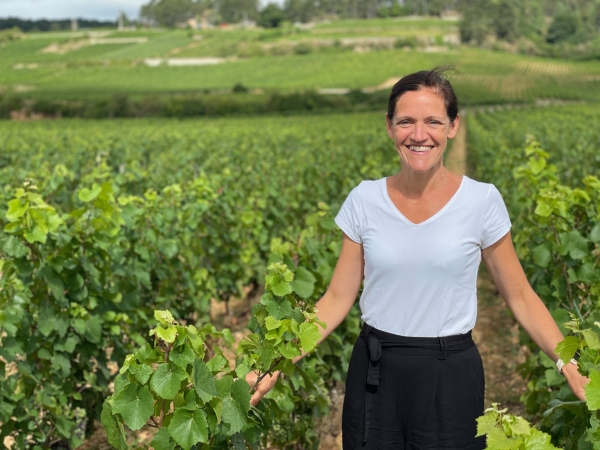
[[[577,401],[554,363],[522,336],[533,350],[521,368],[526,411],[566,449],[600,445],[600,133],[590,126],[597,118],[597,107],[578,106],[477,114],[468,122],[473,176],[501,190],[529,281],[569,335],[559,354],[580,354],[580,370],[592,380],[587,404]]]

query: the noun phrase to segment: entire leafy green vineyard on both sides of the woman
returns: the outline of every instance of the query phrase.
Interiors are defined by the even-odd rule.
[[[467,122],[472,176],[501,190],[530,282],[570,334],[561,357],[578,350],[592,379],[576,401],[522,337],[529,418],[567,449],[600,442],[597,116],[578,105]],[[76,448],[101,421],[116,448],[147,429],[156,450],[318,448],[360,320],[353,309],[314,349],[314,303],[340,250],[341,202],[397,170],[381,114],[0,133],[0,438]],[[234,303],[247,324],[213,320]],[[250,407],[245,376],[273,370],[284,379]],[[498,408],[480,423],[489,448],[552,448],[528,427]]]

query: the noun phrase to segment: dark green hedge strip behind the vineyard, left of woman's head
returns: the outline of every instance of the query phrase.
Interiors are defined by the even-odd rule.
[[[114,94],[87,100],[35,99],[4,92],[0,94],[0,120],[319,114],[379,110],[387,100],[386,91],[366,94],[354,90],[345,95],[322,95],[311,90],[262,95],[246,92],[247,88],[241,84],[234,86],[228,95],[198,93],[134,98]]]

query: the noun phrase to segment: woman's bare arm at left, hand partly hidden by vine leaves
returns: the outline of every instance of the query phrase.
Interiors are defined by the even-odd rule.
[[[327,292],[317,302],[317,317],[325,322],[327,327],[321,329],[321,343],[327,336],[335,330],[344,318],[348,315],[350,308],[356,300],[360,284],[363,279],[364,255],[362,244],[357,244],[348,236],[344,235],[342,250],[338,258],[331,282]],[[294,358],[294,363],[302,359],[306,354]],[[256,391],[250,399],[252,405],[256,405],[263,396],[269,392],[277,382],[278,372],[270,377],[265,377],[256,387]],[[256,382],[256,373],[250,373],[246,380],[250,385]]]

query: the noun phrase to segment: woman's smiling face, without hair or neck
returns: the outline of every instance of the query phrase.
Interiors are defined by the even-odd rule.
[[[424,173],[441,164],[448,138],[458,130],[459,117],[451,123],[443,97],[424,88],[405,92],[386,124],[402,168]]]

